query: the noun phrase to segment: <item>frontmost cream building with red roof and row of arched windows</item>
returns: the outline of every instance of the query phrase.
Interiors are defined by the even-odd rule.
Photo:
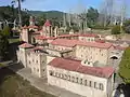
[[[110,97],[114,69],[82,66],[81,61],[54,58],[47,66],[48,83],[89,97]]]

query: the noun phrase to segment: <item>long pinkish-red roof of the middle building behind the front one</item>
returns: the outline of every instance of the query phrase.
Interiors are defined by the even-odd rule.
[[[67,39],[55,39],[51,42],[53,45],[62,45],[74,47],[75,45],[83,45],[83,46],[91,46],[91,47],[99,47],[99,48],[109,48],[113,44],[112,43],[99,43],[99,42],[83,42],[78,40],[67,40]]]

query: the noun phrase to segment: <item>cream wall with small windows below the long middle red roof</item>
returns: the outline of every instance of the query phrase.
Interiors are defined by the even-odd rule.
[[[105,48],[76,46],[76,57],[79,59],[88,59],[91,61],[100,61],[103,65],[107,64],[108,51]]]

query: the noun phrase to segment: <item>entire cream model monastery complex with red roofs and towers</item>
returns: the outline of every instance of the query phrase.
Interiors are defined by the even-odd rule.
[[[34,75],[81,96],[110,97],[123,45],[93,33],[60,36],[50,20],[39,30],[32,17],[30,25],[22,28],[21,39],[25,43],[18,46],[17,60]]]

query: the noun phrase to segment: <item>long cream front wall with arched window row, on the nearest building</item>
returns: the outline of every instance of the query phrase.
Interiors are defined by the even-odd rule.
[[[48,66],[47,70],[48,70],[48,83],[51,85],[65,88],[67,91],[70,91],[73,93],[76,93],[76,94],[79,94],[86,97],[107,97],[107,79],[92,77],[92,75],[82,74],[82,73],[73,72],[73,71],[67,71],[63,69],[57,69],[51,66]],[[96,88],[93,87],[93,84],[92,84],[92,87],[89,87],[89,86],[84,86],[78,83],[69,82],[67,80],[52,77],[49,74],[49,70],[53,70],[58,73],[64,73],[64,74],[68,74],[72,77],[81,78],[88,81],[96,82]],[[99,83],[102,83],[104,85],[103,91],[99,89]]]

